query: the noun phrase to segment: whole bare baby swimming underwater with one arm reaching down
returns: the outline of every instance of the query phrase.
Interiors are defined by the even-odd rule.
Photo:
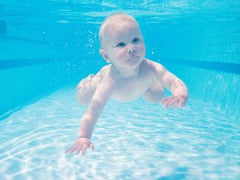
[[[136,20],[122,13],[106,18],[99,32],[100,54],[109,65],[96,75],[89,75],[77,86],[80,103],[88,105],[83,115],[77,141],[66,153],[85,154],[94,149],[91,136],[107,101],[112,98],[129,102],[142,96],[165,108],[181,108],[188,99],[185,84],[161,64],[145,58],[146,49]],[[164,87],[172,96],[164,98]]]

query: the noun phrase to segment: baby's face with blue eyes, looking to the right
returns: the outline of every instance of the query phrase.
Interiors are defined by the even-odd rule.
[[[108,25],[103,41],[107,60],[117,68],[136,68],[145,58],[144,40],[135,22]]]

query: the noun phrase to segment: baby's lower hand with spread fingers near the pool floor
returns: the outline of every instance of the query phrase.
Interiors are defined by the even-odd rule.
[[[78,155],[80,152],[82,155],[85,154],[87,148],[90,148],[94,150],[94,146],[90,139],[88,138],[78,138],[78,140],[73,144],[72,147],[70,147],[65,153],[74,153],[76,151],[76,154]]]

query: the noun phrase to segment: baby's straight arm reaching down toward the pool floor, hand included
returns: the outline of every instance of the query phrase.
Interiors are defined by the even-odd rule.
[[[94,148],[92,142],[90,141],[92,132],[98,117],[103,111],[104,106],[106,105],[113,90],[111,80],[109,80],[109,78],[107,79],[103,78],[102,82],[96,89],[89,107],[82,117],[78,140],[66,151],[66,153],[73,153],[76,151],[77,154],[82,152],[84,155],[87,148]]]

